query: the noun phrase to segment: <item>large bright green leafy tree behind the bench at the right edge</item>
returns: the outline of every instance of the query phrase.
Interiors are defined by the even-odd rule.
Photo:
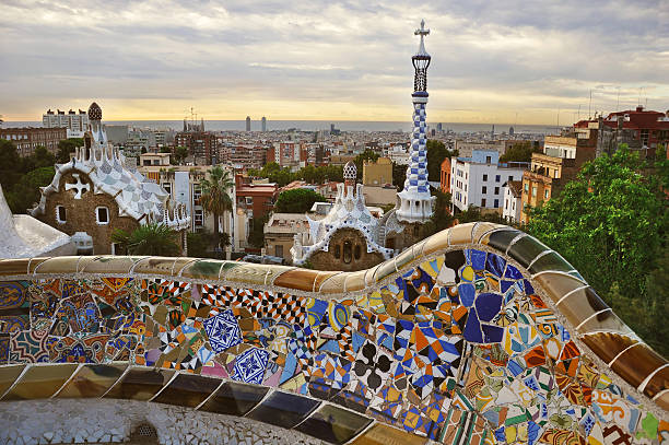
[[[669,273],[668,168],[666,161],[646,164],[624,148],[598,157],[558,198],[530,210],[527,226],[665,355],[669,346],[658,332],[666,332],[667,289],[659,288]]]

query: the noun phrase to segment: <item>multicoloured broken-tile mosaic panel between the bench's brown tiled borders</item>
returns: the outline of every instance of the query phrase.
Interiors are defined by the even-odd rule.
[[[669,423],[582,351],[532,284],[473,248],[328,300],[174,279],[2,282],[0,365],[127,362],[231,378],[445,444],[669,440]]]

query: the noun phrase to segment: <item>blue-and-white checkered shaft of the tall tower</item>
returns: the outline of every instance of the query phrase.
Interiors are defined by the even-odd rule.
[[[425,101],[426,102],[426,101]],[[404,190],[412,194],[430,194],[427,184],[427,125],[426,103],[413,103],[413,136],[411,138],[411,162],[407,168]]]

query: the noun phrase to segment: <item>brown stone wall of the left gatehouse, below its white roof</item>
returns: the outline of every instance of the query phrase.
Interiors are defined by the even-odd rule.
[[[58,191],[46,196],[45,213],[39,215],[39,220],[68,235],[73,235],[74,232],[86,232],[93,237],[93,253],[95,255],[111,254],[111,233],[114,230],[121,229],[126,232],[132,232],[139,227],[139,222],[130,216],[119,216],[118,204],[114,197],[107,194],[94,194],[93,183],[83,173],[78,173],[79,184],[83,187],[81,187],[81,199],[75,199],[77,190],[64,189],[66,184],[78,183],[78,179],[72,175],[72,173],[64,174]],[[66,208],[67,222],[63,224],[56,220],[57,206]],[[108,224],[97,223],[95,214],[97,207],[108,209]]]

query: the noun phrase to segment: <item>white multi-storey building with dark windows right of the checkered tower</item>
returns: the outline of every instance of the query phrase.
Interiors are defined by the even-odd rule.
[[[454,208],[465,211],[469,206],[501,210],[502,186],[508,180],[521,180],[529,167],[525,162],[500,163],[496,150],[474,150],[471,157],[453,160],[450,189]]]

